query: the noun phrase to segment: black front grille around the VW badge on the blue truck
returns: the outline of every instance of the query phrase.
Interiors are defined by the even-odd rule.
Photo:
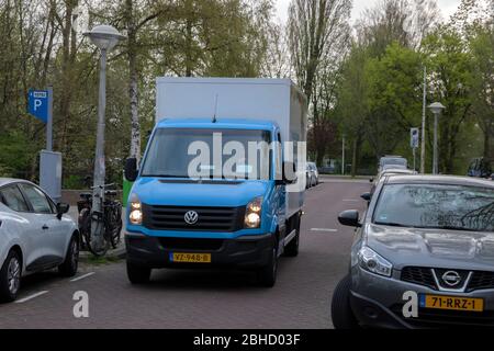
[[[186,213],[198,213],[198,222],[188,224]],[[199,207],[143,204],[143,225],[155,230],[236,231],[244,227],[245,206]]]

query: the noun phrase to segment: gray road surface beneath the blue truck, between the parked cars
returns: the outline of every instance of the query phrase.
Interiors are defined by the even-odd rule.
[[[24,280],[16,303],[0,305],[0,328],[332,328],[333,290],[349,264],[351,228],[340,211],[363,210],[369,182],[325,180],[306,193],[301,248],[281,258],[277,285],[256,286],[249,272],[158,270],[133,286],[125,262],[85,263],[75,279],[46,272]],[[76,292],[89,317],[76,318]]]

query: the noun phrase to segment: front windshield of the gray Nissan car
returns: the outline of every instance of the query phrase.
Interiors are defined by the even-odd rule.
[[[379,196],[373,223],[494,231],[494,190],[445,184],[388,184]]]

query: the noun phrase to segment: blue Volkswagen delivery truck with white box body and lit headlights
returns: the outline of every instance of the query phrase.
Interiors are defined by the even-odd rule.
[[[221,267],[273,286],[279,257],[299,251],[306,128],[289,79],[158,78],[156,126],[125,163],[130,281]]]

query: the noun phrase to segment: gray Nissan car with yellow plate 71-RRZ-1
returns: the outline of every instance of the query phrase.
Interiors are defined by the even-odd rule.
[[[386,177],[359,218],[338,218],[357,230],[335,328],[494,328],[492,181]]]

